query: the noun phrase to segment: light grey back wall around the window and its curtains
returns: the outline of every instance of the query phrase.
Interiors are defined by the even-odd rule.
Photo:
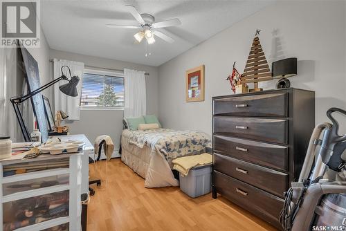
[[[154,66],[146,66],[134,64],[130,62],[122,62],[113,59],[104,59],[89,55],[80,55],[76,53],[68,53],[60,50],[50,50],[51,59],[67,59],[71,61],[84,62],[86,66],[98,66],[103,68],[123,69],[131,68],[138,71],[145,71],[149,75],[145,75],[147,85],[147,114],[158,115],[158,68]],[[51,66],[51,75],[53,75],[53,63]],[[82,110],[80,111],[80,120],[68,122],[66,125],[70,127],[71,134],[84,133],[91,142],[97,136],[111,136],[116,149],[120,145],[120,136],[122,131],[122,118],[124,112],[122,110]]]

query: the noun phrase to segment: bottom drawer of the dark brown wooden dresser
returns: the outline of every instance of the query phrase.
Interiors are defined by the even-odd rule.
[[[214,186],[221,195],[281,229],[280,212],[284,200],[268,192],[214,171]]]

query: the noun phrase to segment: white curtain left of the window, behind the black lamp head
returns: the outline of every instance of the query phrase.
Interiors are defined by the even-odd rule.
[[[62,80],[58,84],[54,85],[54,109],[55,111],[64,111],[69,115],[68,120],[80,120],[80,94],[82,93],[82,77],[84,73],[84,64],[82,62],[73,62],[69,60],[54,59],[54,79],[62,75],[70,78],[69,69],[64,67],[61,71],[62,66],[69,66],[71,69],[71,75],[78,75],[80,82],[78,83],[78,96],[71,97],[65,95],[59,89],[59,86],[66,84],[66,81]]]

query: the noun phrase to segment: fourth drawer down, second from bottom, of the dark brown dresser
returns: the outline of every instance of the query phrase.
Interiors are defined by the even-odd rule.
[[[276,196],[284,196],[287,190],[287,174],[242,160],[215,154],[214,169]]]

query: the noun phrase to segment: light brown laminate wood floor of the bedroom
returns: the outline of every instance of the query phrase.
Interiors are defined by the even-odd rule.
[[[119,158],[89,165],[101,178],[88,205],[88,231],[96,230],[275,230],[271,225],[211,194],[190,198],[179,187],[147,189]]]

